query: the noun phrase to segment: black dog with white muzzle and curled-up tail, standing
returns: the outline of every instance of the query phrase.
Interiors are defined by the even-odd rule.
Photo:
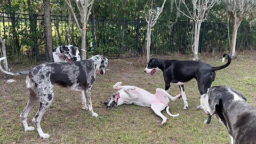
[[[156,73],[156,68],[161,69],[164,75],[165,90],[168,92],[170,83],[179,85],[184,101],[183,109],[188,109],[184,84],[195,78],[200,94],[205,94],[214,81],[215,71],[229,66],[231,57],[228,53],[225,53],[223,58],[226,56],[228,57],[228,62],[220,67],[212,67],[208,63],[202,61],[180,61],[153,58],[148,61],[148,66],[144,71],[154,75]],[[201,107],[198,106],[197,108],[199,109]]]

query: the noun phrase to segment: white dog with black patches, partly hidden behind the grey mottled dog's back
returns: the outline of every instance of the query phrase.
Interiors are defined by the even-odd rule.
[[[61,45],[52,52],[54,62],[71,62],[81,60],[78,47],[74,45]]]

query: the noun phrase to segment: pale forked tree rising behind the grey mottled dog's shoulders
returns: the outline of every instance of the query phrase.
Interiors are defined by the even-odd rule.
[[[94,0],[74,0],[76,3],[76,7],[79,11],[80,15],[80,22],[82,27],[79,25],[79,22],[77,20],[77,16],[74,12],[73,6],[70,2],[70,0],[65,0],[65,2],[68,4],[69,9],[75,19],[76,26],[79,29],[79,32],[81,34],[81,49],[83,50],[82,52],[82,60],[86,59],[86,25],[89,20],[89,17],[91,15],[91,10],[93,6]]]

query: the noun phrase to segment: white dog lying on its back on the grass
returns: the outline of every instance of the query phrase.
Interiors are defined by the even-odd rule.
[[[172,115],[169,112],[168,106],[169,99],[175,101],[180,98],[179,94],[172,97],[165,90],[159,88],[156,89],[155,94],[151,94],[148,91],[140,89],[136,86],[122,85],[122,82],[117,82],[115,85],[113,85],[113,88],[119,91],[113,94],[107,102],[104,102],[109,108],[117,107],[123,103],[151,107],[154,113],[163,119],[161,124],[165,124],[167,120],[167,118],[161,113],[161,111],[165,108],[168,115],[172,117],[179,116],[179,114]]]

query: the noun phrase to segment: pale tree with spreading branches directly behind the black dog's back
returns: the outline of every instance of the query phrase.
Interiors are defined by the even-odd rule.
[[[177,6],[177,2],[175,0],[175,4],[177,9],[186,17],[193,20],[194,23],[194,35],[193,35],[193,45],[192,45],[192,51],[194,58],[193,60],[199,60],[198,58],[198,44],[199,44],[199,34],[200,34],[200,28],[203,21],[206,20],[207,13],[209,10],[213,7],[216,0],[192,0],[193,10],[188,9],[187,4],[185,3],[185,0],[180,0],[183,5],[186,7],[186,13],[181,11],[179,7]]]

